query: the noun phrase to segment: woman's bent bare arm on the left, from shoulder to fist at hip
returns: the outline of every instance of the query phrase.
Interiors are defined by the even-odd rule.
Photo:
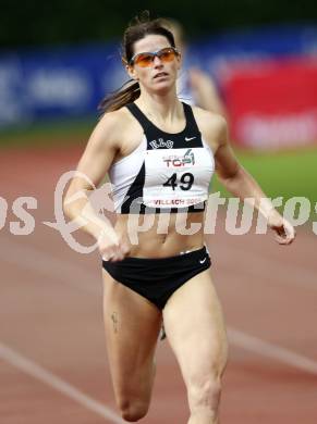
[[[77,165],[78,175],[72,178],[63,201],[64,213],[98,241],[101,255],[111,261],[122,260],[129,245],[119,238],[109,220],[97,215],[89,195],[102,182],[120,149],[124,122],[122,111],[118,111],[107,113],[97,124]]]

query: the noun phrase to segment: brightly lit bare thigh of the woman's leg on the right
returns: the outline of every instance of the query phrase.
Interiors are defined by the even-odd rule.
[[[210,270],[191,278],[163,309],[164,329],[187,388],[220,378],[228,357],[221,305]]]

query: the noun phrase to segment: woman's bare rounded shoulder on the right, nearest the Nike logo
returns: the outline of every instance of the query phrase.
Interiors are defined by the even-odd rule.
[[[225,119],[215,112],[193,107],[195,120],[203,138],[210,146],[214,152],[227,140],[228,125]]]

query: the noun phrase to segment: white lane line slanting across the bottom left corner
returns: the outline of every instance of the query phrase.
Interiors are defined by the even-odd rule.
[[[82,407],[93,411],[94,413],[102,416],[111,423],[124,424],[124,421],[121,420],[121,417],[117,415],[110,408],[94,400],[89,396],[85,395],[83,391],[78,390],[76,387],[72,386],[70,383],[45,370],[42,366],[37,365],[32,360],[25,358],[21,353],[16,352],[12,348],[1,342],[0,358],[19,369],[20,371],[23,371],[25,374],[28,374],[29,376],[40,381],[47,386],[65,395],[75,402],[80,403]]]

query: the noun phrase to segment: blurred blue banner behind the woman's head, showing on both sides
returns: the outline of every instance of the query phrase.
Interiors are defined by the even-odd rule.
[[[217,78],[230,61],[316,54],[317,27],[284,26],[196,40],[187,61]],[[0,53],[0,127],[97,114],[105,93],[126,79],[119,42]]]

